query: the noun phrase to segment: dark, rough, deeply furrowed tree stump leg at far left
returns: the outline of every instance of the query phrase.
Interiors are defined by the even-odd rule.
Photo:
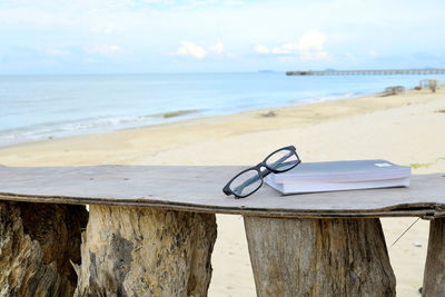
[[[0,202],[0,295],[72,296],[85,206]]]

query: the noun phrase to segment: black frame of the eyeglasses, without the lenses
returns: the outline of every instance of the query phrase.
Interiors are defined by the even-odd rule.
[[[280,151],[280,150],[290,150],[290,151],[293,151],[293,152],[295,154],[295,156],[297,157],[297,162],[296,162],[294,166],[291,166],[291,167],[289,167],[289,168],[287,168],[287,169],[285,169],[285,170],[275,170],[274,168],[270,168],[269,166],[267,166],[267,160],[268,160],[271,156],[274,156],[275,154],[277,154],[277,152]],[[234,195],[234,196],[235,196],[235,199],[246,198],[247,196],[253,195],[254,192],[256,192],[257,190],[259,190],[259,188],[263,187],[264,178],[267,177],[268,175],[270,175],[270,174],[281,174],[281,172],[286,172],[286,171],[288,171],[288,170],[290,170],[290,169],[294,169],[294,168],[295,168],[296,166],[298,166],[300,162],[301,162],[301,160],[299,159],[298,154],[297,154],[297,149],[296,149],[294,146],[288,146],[288,147],[284,147],[284,148],[277,149],[277,150],[270,152],[270,154],[269,154],[261,162],[259,162],[258,165],[253,166],[253,167],[249,167],[249,168],[243,170],[241,172],[239,172],[238,175],[236,175],[234,178],[231,178],[231,179],[229,180],[229,182],[227,182],[226,186],[224,186],[222,191],[224,191],[224,194],[226,194],[227,196]],[[263,167],[266,168],[266,170],[261,170]],[[258,186],[258,188],[256,188],[254,191],[251,191],[251,192],[249,192],[249,194],[247,194],[247,195],[244,195],[244,196],[237,195],[236,192],[234,192],[234,191],[230,189],[230,184],[231,184],[235,179],[237,179],[239,176],[241,176],[241,175],[244,175],[244,174],[246,174],[247,171],[250,171],[250,170],[256,170],[256,171],[258,172],[258,176],[261,178],[261,184]]]

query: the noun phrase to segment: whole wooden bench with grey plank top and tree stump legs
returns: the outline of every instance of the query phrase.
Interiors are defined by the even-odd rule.
[[[414,176],[409,188],[226,197],[241,169],[0,166],[0,291],[206,296],[215,214],[237,214],[258,296],[395,296],[379,217],[399,216],[432,220],[423,294],[445,295],[444,175]]]

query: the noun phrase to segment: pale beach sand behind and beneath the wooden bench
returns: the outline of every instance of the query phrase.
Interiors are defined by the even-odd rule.
[[[273,112],[269,112],[273,111]],[[271,116],[270,116],[271,113]],[[255,165],[295,145],[303,161],[382,158],[414,174],[445,172],[445,89],[409,90],[0,148],[7,166]],[[225,180],[221,180],[221,186]],[[415,218],[382,219],[388,247]],[[243,218],[217,216],[209,296],[255,296]],[[389,257],[399,296],[419,296],[428,221],[419,220]]]

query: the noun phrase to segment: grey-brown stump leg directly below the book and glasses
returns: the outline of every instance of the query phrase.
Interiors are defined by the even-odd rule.
[[[395,296],[379,219],[244,220],[259,297]]]

